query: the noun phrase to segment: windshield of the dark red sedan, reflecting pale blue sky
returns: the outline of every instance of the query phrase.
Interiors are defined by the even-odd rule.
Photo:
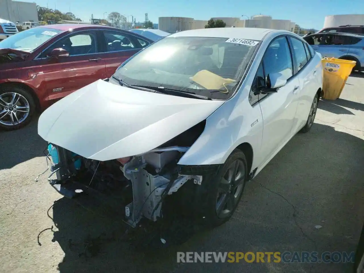
[[[33,52],[41,44],[63,32],[52,28],[30,28],[12,35],[0,42],[1,48]]]

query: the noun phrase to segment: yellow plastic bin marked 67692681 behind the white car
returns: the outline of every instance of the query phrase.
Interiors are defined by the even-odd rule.
[[[324,67],[323,99],[336,100],[340,97],[355,64],[355,61],[322,58]]]

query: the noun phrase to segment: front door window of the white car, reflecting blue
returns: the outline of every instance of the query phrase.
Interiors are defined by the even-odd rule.
[[[273,40],[264,53],[263,63],[265,80],[270,73],[281,73],[286,79],[292,77],[292,58],[285,36]]]

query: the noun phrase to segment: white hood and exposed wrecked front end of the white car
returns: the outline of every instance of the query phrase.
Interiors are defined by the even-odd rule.
[[[187,206],[189,185],[192,194],[201,188],[201,170],[178,162],[223,103],[98,80],[40,115],[38,134],[50,144],[54,163],[48,179],[67,197],[108,203],[131,226],[142,217],[156,221],[174,208],[163,206],[165,199]]]

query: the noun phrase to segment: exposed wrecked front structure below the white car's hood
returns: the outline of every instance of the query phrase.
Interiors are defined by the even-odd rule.
[[[68,198],[87,195],[95,198],[95,202],[111,203],[132,227],[143,217],[155,222],[163,217],[167,195],[176,193],[187,181],[201,185],[202,175],[182,174],[177,163],[202,133],[204,125],[205,121],[145,154],[109,161],[87,159],[48,143],[48,158],[53,163],[48,181]]]

